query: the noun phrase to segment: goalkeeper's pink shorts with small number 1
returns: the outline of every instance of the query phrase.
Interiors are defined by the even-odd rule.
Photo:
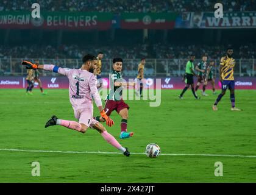
[[[98,123],[93,119],[93,109],[91,108],[81,108],[79,110],[74,110],[74,116],[78,119],[79,123],[85,124],[87,127],[91,127]]]

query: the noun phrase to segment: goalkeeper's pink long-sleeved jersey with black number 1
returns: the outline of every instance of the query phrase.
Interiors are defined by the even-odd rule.
[[[68,77],[69,101],[74,110],[79,110],[80,108],[93,108],[93,99],[97,107],[102,105],[96,87],[97,80],[93,73],[84,69],[60,68],[54,65],[44,65],[43,69]]]

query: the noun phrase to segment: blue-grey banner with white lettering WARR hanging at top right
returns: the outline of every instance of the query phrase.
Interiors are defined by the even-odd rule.
[[[256,12],[224,12],[215,18],[214,12],[184,12],[176,18],[176,28],[244,29],[256,28]]]

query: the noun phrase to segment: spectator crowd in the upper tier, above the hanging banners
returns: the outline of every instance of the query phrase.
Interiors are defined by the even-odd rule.
[[[256,10],[255,0],[222,0],[225,11]],[[0,11],[30,10],[32,0],[2,0]],[[213,12],[213,0],[44,0],[42,10],[67,12]]]

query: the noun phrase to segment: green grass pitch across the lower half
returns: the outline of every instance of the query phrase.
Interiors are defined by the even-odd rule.
[[[219,92],[219,91],[218,91]],[[213,112],[217,95],[197,101],[191,91],[185,99],[180,90],[162,90],[160,107],[149,101],[127,101],[128,130],[135,135],[118,138],[121,118],[113,112],[114,127],[108,127],[130,152],[144,152],[157,143],[163,154],[220,154],[256,156],[256,91],[237,90],[231,112],[229,92]],[[44,129],[52,115],[73,119],[68,90],[48,90],[42,96],[26,96],[24,90],[0,90],[0,149],[30,151],[118,152],[93,129],[82,134],[64,127]],[[98,115],[97,108],[94,113]],[[40,177],[31,175],[32,162],[40,163]],[[223,164],[223,176],[216,177],[215,162]],[[61,154],[0,150],[0,182],[255,182],[255,157],[160,155],[148,158],[132,154]]]

